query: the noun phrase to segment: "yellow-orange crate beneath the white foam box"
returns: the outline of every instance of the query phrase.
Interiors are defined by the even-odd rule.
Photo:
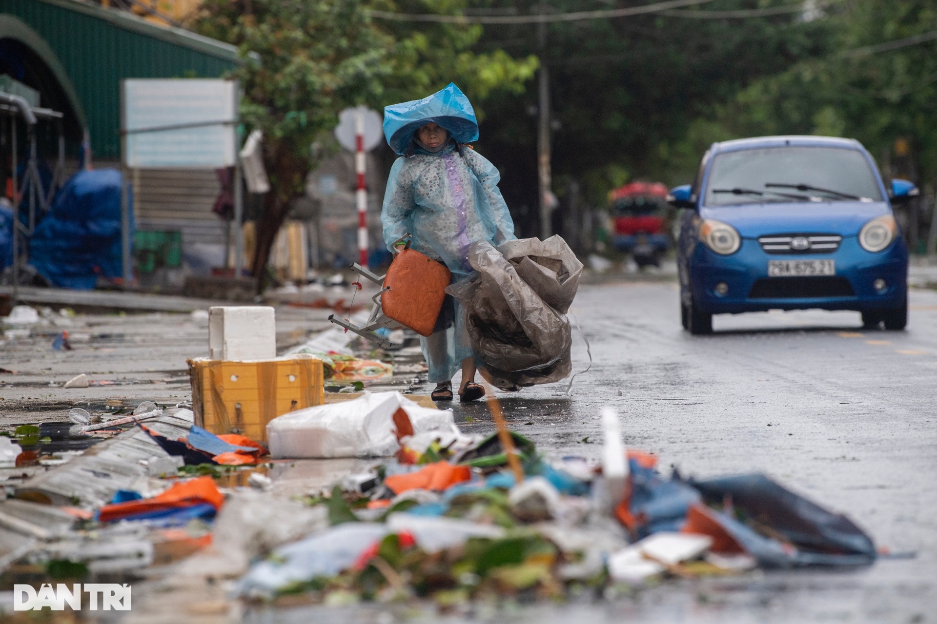
[[[230,362],[188,360],[195,424],[265,443],[276,416],[325,402],[322,362],[312,356]]]

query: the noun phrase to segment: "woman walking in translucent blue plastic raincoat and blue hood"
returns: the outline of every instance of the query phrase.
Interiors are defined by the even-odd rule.
[[[468,97],[450,83],[422,100],[384,108],[384,137],[401,155],[394,162],[380,213],[384,241],[411,235],[410,247],[439,260],[453,281],[472,272],[468,248],[478,240],[498,245],[513,240],[514,225],[498,190],[498,169],[466,143],[478,139],[478,122]],[[403,244],[403,243],[398,243]],[[481,399],[475,383],[476,361],[465,315],[446,297],[431,336],[420,338],[435,383],[433,399],[453,399],[452,379],[462,369],[462,400]]]

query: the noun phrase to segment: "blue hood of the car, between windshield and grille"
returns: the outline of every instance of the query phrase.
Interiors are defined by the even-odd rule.
[[[795,233],[845,237],[858,235],[862,225],[890,211],[885,202],[831,201],[709,206],[700,216],[732,225],[745,239]]]

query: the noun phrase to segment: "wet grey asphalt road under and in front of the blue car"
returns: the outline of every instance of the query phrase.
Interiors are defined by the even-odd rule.
[[[911,294],[908,329],[863,331],[857,312],[714,318],[712,336],[681,330],[673,283],[583,286],[573,313],[592,368],[565,385],[502,395],[512,428],[559,455],[598,457],[599,412],[614,407],[630,448],[665,471],[766,472],[849,515],[880,547],[852,571],[752,573],[667,582],[635,598],[537,606],[513,621],[937,621],[937,292]],[[573,363],[587,366],[573,333]],[[483,405],[456,422],[489,431]]]

